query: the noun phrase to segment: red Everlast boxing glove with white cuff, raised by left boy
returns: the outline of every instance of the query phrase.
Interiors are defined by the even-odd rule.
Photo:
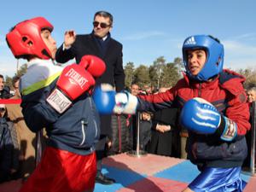
[[[69,108],[76,98],[94,86],[95,78],[105,72],[105,62],[93,55],[84,55],[79,65],[65,67],[56,83],[57,88],[48,96],[47,102],[58,113]]]

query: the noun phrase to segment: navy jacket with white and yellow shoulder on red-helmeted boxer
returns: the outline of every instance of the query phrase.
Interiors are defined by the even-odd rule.
[[[90,154],[100,135],[99,115],[90,95],[82,94],[61,114],[46,102],[62,69],[47,60],[28,63],[27,72],[20,79],[22,113],[31,131],[46,128],[49,146],[75,154]]]

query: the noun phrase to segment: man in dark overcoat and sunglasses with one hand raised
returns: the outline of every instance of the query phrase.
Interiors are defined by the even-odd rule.
[[[94,15],[93,32],[76,35],[74,31],[65,32],[64,43],[57,50],[55,60],[61,63],[75,58],[79,63],[83,55],[96,55],[106,63],[106,72],[96,79],[96,85],[112,84],[117,91],[124,90],[125,73],[123,68],[122,44],[110,37],[113,28],[113,16],[106,11]],[[96,182],[112,184],[115,181],[102,175],[102,158],[105,144],[111,135],[111,115],[101,115],[101,137],[96,145],[97,175]]]

